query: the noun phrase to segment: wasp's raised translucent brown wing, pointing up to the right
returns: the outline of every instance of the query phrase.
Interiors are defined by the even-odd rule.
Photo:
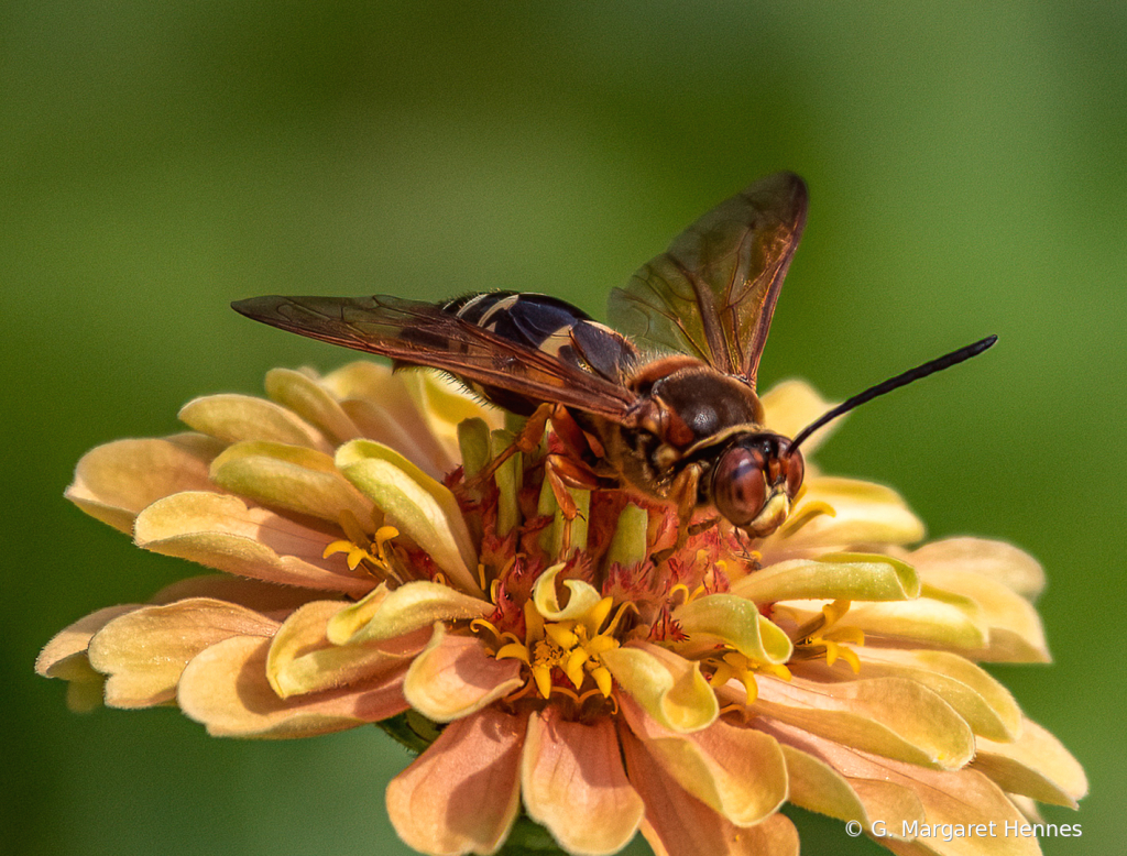
[[[754,386],[806,206],[806,184],[791,172],[720,203],[611,292],[611,323]]]

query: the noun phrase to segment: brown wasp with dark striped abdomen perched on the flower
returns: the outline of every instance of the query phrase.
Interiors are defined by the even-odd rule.
[[[783,278],[806,223],[806,184],[780,172],[720,203],[610,295],[613,327],[542,294],[489,292],[445,303],[383,295],[266,296],[243,315],[283,330],[443,369],[529,417],[507,449],[534,448],[551,422],[567,454],[547,476],[565,516],[567,485],[611,483],[676,507],[682,533],[715,511],[753,538],[774,532],[802,485],[800,446],[878,395],[991,347],[952,351],[846,400],[784,437],[755,392]],[[503,457],[495,460],[495,464]]]

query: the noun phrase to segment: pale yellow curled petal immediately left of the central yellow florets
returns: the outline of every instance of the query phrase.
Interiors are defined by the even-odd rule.
[[[429,627],[435,622],[483,618],[492,612],[488,600],[427,580],[405,583],[381,597],[373,592],[371,597],[372,603],[361,601],[329,623],[329,639],[335,644],[380,642]],[[367,622],[356,626],[370,609]]]

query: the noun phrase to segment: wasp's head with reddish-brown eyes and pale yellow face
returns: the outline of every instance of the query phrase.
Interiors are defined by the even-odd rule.
[[[748,435],[730,445],[712,471],[712,503],[731,524],[762,537],[779,527],[802,487],[798,449],[775,434]]]

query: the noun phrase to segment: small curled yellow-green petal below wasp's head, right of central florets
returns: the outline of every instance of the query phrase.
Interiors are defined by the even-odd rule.
[[[784,663],[795,650],[790,637],[754,603],[736,595],[699,597],[677,608],[674,617],[689,634],[693,651],[722,642],[756,662]]]

